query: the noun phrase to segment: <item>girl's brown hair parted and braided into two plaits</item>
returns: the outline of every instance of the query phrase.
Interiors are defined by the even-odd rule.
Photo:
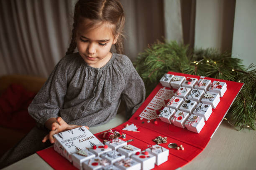
[[[118,37],[115,43],[117,53],[123,54],[123,27],[125,16],[123,7],[118,0],[78,0],[74,10],[74,23],[72,30],[72,40],[66,55],[72,54],[77,47],[76,32],[79,18],[88,18],[93,23],[109,22],[115,25],[113,35]]]

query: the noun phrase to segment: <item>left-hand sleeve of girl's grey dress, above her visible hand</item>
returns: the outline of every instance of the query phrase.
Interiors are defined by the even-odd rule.
[[[36,120],[39,127],[51,117],[58,117],[63,107],[67,91],[67,64],[65,59],[54,67],[48,80],[34,97],[28,107],[29,114]]]

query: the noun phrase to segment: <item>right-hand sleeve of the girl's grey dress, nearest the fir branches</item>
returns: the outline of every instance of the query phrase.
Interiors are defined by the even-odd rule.
[[[145,85],[138,72],[133,67],[131,60],[126,63],[128,69],[125,70],[125,89],[122,92],[122,100],[126,104],[127,118],[141,106],[145,100]]]

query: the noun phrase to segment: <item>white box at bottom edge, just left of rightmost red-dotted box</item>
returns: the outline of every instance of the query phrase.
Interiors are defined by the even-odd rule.
[[[115,163],[115,166],[120,168],[121,170],[140,170],[141,163],[138,163],[136,160],[132,158],[125,158],[124,160],[119,160]]]

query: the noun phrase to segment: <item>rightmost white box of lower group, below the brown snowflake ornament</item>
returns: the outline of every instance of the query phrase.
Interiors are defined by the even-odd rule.
[[[161,165],[168,160],[169,149],[166,149],[159,145],[153,145],[150,148],[147,148],[146,151],[156,156],[156,165]]]

